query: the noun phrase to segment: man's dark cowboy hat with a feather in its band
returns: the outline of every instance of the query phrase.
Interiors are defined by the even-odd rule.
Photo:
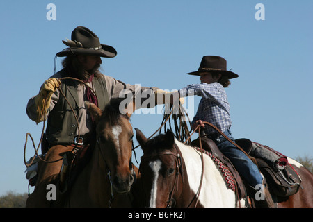
[[[56,53],[56,56],[70,55],[93,55],[106,58],[113,58],[117,52],[112,46],[100,44],[99,37],[90,31],[90,29],[78,26],[72,31],[72,40],[63,41],[70,48]]]

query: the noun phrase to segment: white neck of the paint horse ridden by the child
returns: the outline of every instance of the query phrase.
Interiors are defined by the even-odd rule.
[[[202,177],[202,157],[201,153],[191,146],[186,146],[181,142],[175,141],[182,153],[188,176],[190,190],[197,194]],[[225,180],[219,169],[211,160],[209,155],[203,154],[203,180],[200,190],[199,203],[204,207],[233,207],[235,205],[234,192],[227,189]],[[186,182],[186,181],[185,181]],[[227,201],[228,200],[228,201]],[[225,205],[225,203],[227,203]]]

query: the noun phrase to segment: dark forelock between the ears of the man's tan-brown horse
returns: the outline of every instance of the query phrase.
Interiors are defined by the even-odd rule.
[[[101,119],[106,120],[110,126],[114,126],[116,123],[120,123],[120,117],[125,117],[129,120],[127,114],[120,112],[120,103],[123,99],[111,99],[110,103],[107,104],[102,112]]]

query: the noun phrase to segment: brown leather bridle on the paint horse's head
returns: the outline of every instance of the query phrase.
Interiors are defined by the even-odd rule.
[[[175,200],[175,198],[173,198],[173,196],[175,193],[175,189],[176,189],[176,191],[178,191],[179,175],[182,176],[182,182],[184,183],[184,170],[182,167],[182,161],[183,161],[182,156],[181,156],[181,154],[179,154],[179,149],[178,149],[176,144],[174,144],[174,147],[175,147],[175,150],[177,151],[177,153],[174,153],[172,151],[161,151],[159,153],[154,153],[151,155],[143,155],[141,157],[141,161],[152,159],[153,157],[160,157],[162,155],[172,155],[175,157],[175,169],[176,169],[175,180],[174,180],[174,184],[172,185],[172,189],[170,189],[168,201],[166,201],[166,208],[172,208],[172,207],[175,207],[175,205],[176,205],[176,200]],[[140,171],[140,168],[139,168],[139,171]]]

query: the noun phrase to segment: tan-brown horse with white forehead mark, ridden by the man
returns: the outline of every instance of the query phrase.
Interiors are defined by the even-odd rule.
[[[50,207],[131,207],[130,190],[138,172],[131,162],[134,134],[129,120],[134,105],[124,113],[120,112],[118,99],[111,100],[104,111],[88,102],[86,108],[96,126],[90,136],[95,141],[86,151],[86,164],[64,191],[56,191],[56,201],[50,201]],[[60,187],[59,173],[54,177],[54,184]],[[45,185],[42,187],[45,189]],[[36,200],[35,196],[30,197],[29,206]]]

